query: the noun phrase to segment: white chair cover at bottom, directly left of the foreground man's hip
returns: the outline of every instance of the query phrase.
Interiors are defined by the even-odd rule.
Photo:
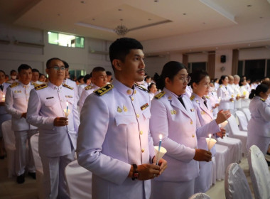
[[[65,167],[70,198],[92,198],[92,172],[72,161]]]

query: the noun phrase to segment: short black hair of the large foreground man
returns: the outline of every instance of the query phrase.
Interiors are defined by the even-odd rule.
[[[114,43],[109,46],[109,59],[112,61],[117,59],[124,63],[126,55],[129,54],[132,49],[144,50],[143,45],[134,38],[118,38]],[[112,64],[114,70],[114,65]]]

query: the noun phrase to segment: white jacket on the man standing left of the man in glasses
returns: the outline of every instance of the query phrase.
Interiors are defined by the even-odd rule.
[[[21,117],[21,114],[27,112],[29,94],[33,88],[31,83],[23,85],[21,82],[14,82],[6,90],[6,110],[12,116],[11,129],[13,131],[38,129]]]

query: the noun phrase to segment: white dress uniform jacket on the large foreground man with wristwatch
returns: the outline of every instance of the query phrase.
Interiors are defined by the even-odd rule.
[[[77,159],[92,171],[92,198],[149,198],[151,181],[127,178],[131,164],[151,163],[154,156],[149,95],[118,80],[113,86],[106,85],[85,100]]]

